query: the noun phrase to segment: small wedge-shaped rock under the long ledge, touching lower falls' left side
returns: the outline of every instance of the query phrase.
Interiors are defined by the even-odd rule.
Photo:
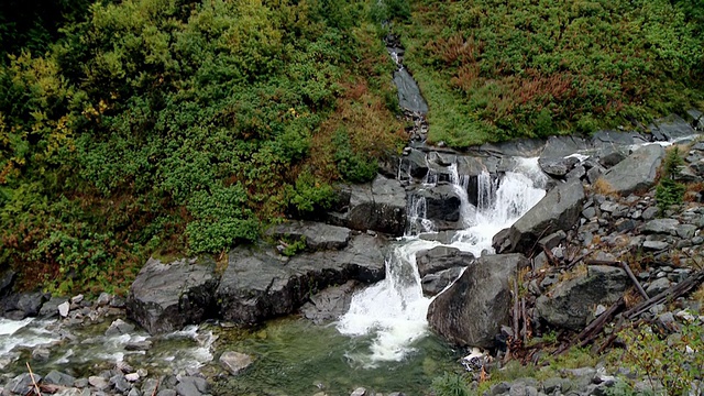
[[[310,297],[310,301],[300,310],[306,319],[318,324],[336,320],[350,308],[352,295],[359,285],[356,280],[349,280],[341,286],[328,287]]]

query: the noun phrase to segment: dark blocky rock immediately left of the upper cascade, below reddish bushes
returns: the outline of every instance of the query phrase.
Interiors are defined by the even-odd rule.
[[[350,186],[343,191],[344,212],[329,221],[353,230],[374,230],[400,237],[406,229],[406,191],[400,182],[378,175],[371,185]]]

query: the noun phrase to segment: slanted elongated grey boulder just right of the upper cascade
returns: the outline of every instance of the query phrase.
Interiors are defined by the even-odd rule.
[[[493,240],[494,249],[497,253],[530,252],[541,238],[574,227],[580,219],[584,200],[584,188],[580,180],[559,185],[508,231],[496,234]]]

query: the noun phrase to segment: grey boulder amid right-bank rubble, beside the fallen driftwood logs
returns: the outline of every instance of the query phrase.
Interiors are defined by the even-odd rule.
[[[598,305],[609,306],[628,287],[626,272],[618,267],[591,265],[583,274],[561,282],[536,300],[539,318],[552,326],[582,330]]]

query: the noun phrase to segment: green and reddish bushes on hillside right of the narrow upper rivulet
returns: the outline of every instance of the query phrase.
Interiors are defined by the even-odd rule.
[[[697,7],[698,6],[698,7]],[[430,140],[588,133],[702,99],[700,0],[413,2],[406,63]]]

